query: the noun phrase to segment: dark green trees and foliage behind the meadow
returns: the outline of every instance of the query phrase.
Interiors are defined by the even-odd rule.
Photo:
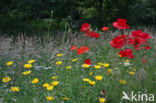
[[[155,25],[156,0],[0,0],[1,32],[79,30],[84,22],[111,27],[117,18]]]

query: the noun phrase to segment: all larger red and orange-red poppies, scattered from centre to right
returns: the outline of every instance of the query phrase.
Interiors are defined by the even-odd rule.
[[[127,25],[127,20],[118,18],[117,21],[113,22],[113,26],[117,29],[128,29],[130,28],[129,25]],[[103,27],[103,31],[107,31],[108,27]],[[81,25],[81,32],[85,32],[84,36],[89,36],[90,38],[99,38],[100,34],[95,33],[89,23],[84,23]],[[118,35],[115,38],[113,38],[110,41],[110,45],[114,47],[115,49],[120,49],[125,47],[124,50],[120,50],[118,53],[121,57],[128,57],[130,59],[134,58],[134,55],[132,54],[132,49],[130,46],[132,45],[135,50],[142,50],[142,49],[150,49],[150,46],[148,45],[148,41],[151,39],[151,36],[149,36],[148,33],[142,32],[142,30],[135,30],[132,32],[131,35],[127,36],[124,34]],[[126,46],[127,45],[127,46]],[[128,47],[128,48],[126,48]],[[77,54],[83,54],[85,52],[89,51],[89,48],[87,46],[82,46],[80,48],[77,48],[76,46],[71,46],[70,50],[77,50]],[[90,64],[90,60],[87,59],[85,61],[87,64]]]

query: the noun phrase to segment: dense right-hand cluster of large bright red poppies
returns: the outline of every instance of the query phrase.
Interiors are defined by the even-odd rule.
[[[118,19],[113,23],[113,26],[117,29],[128,29],[130,28],[129,25],[126,24],[127,20],[124,19]],[[142,32],[142,30],[135,30],[132,32],[132,34],[128,37],[127,35],[121,34],[113,38],[110,42],[111,46],[120,49],[124,47],[125,45],[133,45],[135,50],[142,50],[142,49],[150,49],[150,46],[148,45],[148,41],[151,39],[151,36],[149,36],[148,33]],[[120,50],[118,53],[121,57],[128,57],[130,59],[134,58],[134,55],[132,54],[132,49],[126,48],[125,50]]]

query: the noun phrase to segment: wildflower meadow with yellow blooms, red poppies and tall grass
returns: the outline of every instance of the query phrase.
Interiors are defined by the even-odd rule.
[[[156,31],[112,26],[1,37],[0,103],[156,103]]]

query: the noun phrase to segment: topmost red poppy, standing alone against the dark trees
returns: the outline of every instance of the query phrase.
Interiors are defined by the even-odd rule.
[[[118,18],[117,21],[115,21],[113,23],[113,26],[117,29],[128,29],[128,28],[130,28],[130,26],[127,25],[126,23],[127,23],[127,20],[122,19],[122,18]]]

